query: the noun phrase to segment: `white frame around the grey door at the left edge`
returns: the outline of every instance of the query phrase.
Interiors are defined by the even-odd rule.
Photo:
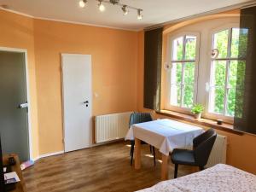
[[[28,146],[29,146],[29,159],[32,158],[32,116],[31,116],[31,100],[30,100],[30,89],[29,89],[29,75],[28,75],[28,61],[27,61],[27,49],[0,47],[0,51],[24,53],[25,55],[25,73],[26,73],[26,100],[27,100],[27,129],[28,129]]]

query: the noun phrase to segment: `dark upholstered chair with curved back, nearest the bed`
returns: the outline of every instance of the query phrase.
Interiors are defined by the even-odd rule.
[[[175,148],[171,154],[172,163],[175,165],[174,178],[177,177],[178,165],[199,166],[200,170],[204,170],[216,137],[216,132],[213,129],[209,129],[194,138],[193,150]]]

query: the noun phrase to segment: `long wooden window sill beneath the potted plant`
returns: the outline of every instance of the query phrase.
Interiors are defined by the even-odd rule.
[[[180,119],[180,120],[183,120],[183,121],[188,121],[189,123],[193,123],[193,124],[196,124],[196,125],[212,127],[214,129],[217,129],[217,130],[220,130],[220,131],[227,131],[227,132],[230,132],[230,133],[234,133],[236,135],[243,135],[243,132],[234,130],[232,124],[223,123],[222,125],[218,125],[217,122],[215,120],[212,120],[212,119],[203,119],[202,118],[200,120],[197,120],[192,115],[184,114],[184,113],[178,113],[178,112],[169,111],[169,110],[160,110],[156,113],[160,114],[160,115],[166,115],[166,116],[171,117],[173,119]]]

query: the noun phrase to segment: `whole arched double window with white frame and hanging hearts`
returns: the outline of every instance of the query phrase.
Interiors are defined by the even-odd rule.
[[[233,123],[240,113],[236,97],[242,94],[239,74],[247,53],[247,29],[239,28],[239,18],[183,26],[170,31],[166,41],[162,109],[191,114],[200,103],[204,118]]]

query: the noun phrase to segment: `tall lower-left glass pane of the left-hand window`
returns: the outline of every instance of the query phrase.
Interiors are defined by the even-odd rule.
[[[171,104],[181,105],[182,63],[172,63]]]

